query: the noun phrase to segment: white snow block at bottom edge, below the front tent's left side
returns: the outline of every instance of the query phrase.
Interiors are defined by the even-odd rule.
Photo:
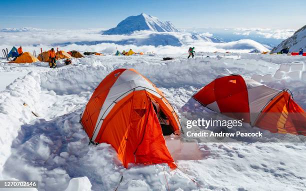
[[[90,191],[91,183],[87,176],[70,179],[65,191]]]

